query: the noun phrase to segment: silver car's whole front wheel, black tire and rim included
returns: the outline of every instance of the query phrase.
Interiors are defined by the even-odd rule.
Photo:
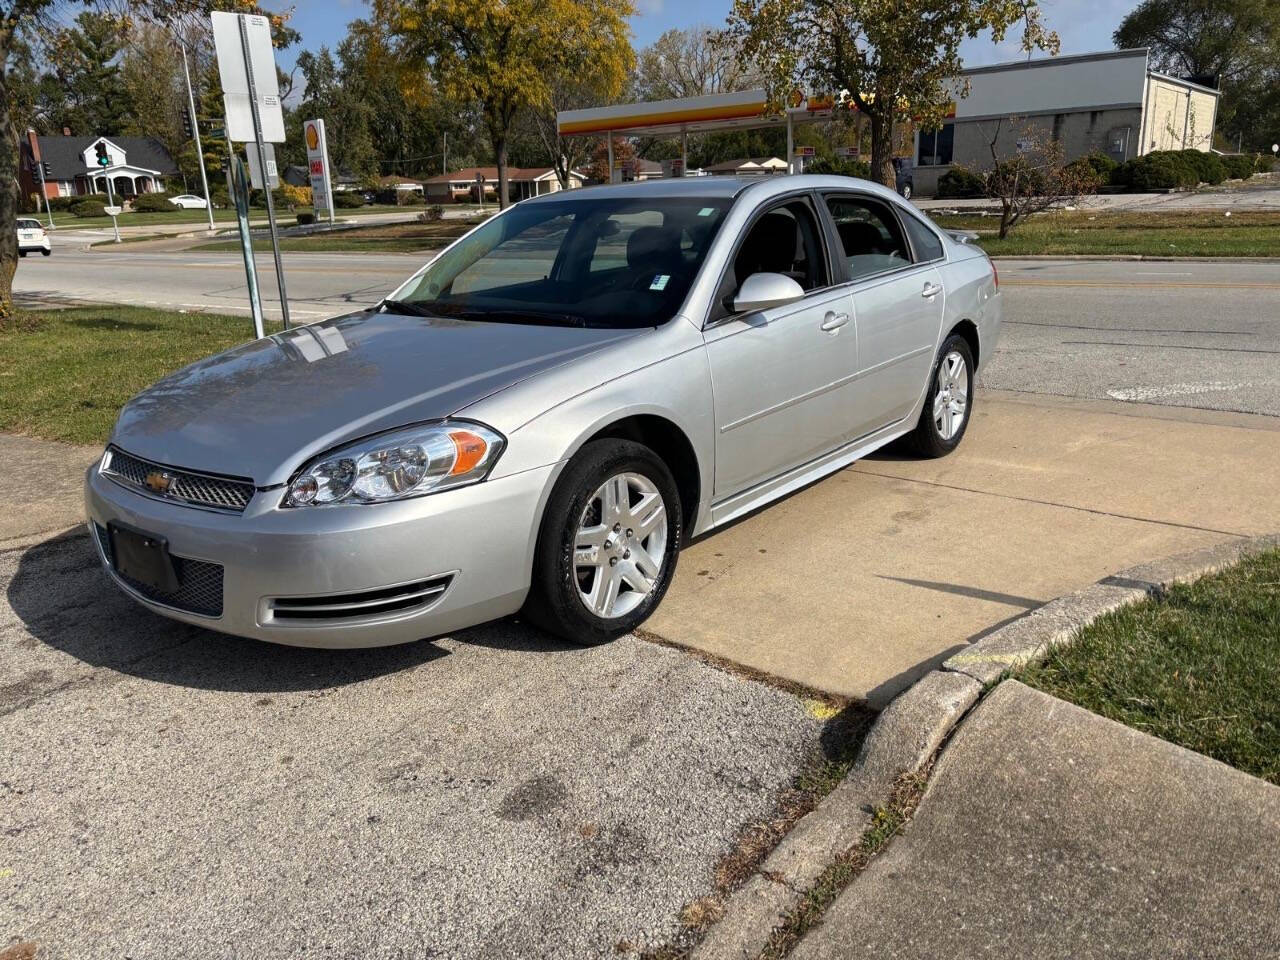
[[[613,515],[611,527],[604,516],[607,481],[613,481],[618,503],[618,494],[626,490],[627,511],[648,506],[637,516]],[[648,499],[654,494],[660,498],[663,522]],[[524,616],[549,634],[584,645],[604,644],[635,630],[662,603],[671,584],[684,536],[681,517],[676,480],[657,453],[631,440],[586,444],[564,467],[543,511]],[[636,530],[628,539],[645,520],[652,529]],[[635,586],[646,580],[648,590]]]

